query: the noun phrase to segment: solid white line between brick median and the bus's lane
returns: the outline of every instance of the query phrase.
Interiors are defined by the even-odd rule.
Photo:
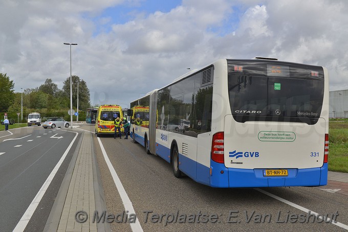
[[[101,143],[100,141],[100,138],[97,137],[98,139],[98,142],[99,142],[99,145],[100,145],[100,148],[101,148],[101,151],[103,153],[103,156],[104,156],[104,159],[106,161],[106,164],[107,164],[107,167],[109,168],[110,172],[111,172],[111,175],[114,179],[114,182],[116,184],[116,188],[118,190],[118,193],[120,194],[120,197],[122,199],[122,203],[124,205],[124,209],[126,211],[129,212],[129,214],[135,214],[135,211],[134,211],[134,208],[133,208],[133,204],[132,204],[132,201],[130,201],[126,191],[124,190],[123,188],[123,185],[121,183],[121,180],[120,178],[118,178],[118,175],[113,167],[113,165],[111,164],[111,161],[110,159],[107,157],[107,154],[106,154],[106,151],[103,147],[103,144]],[[128,215],[129,215],[128,214]],[[132,231],[143,231],[143,228],[141,227],[140,225],[140,222],[138,220],[138,218],[136,218],[136,221],[135,223],[129,223],[130,224],[130,227],[132,228]]]

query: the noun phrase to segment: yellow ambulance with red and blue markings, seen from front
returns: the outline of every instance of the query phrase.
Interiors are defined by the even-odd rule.
[[[116,118],[123,119],[122,108],[119,105],[101,105],[97,110],[95,134],[114,134]]]

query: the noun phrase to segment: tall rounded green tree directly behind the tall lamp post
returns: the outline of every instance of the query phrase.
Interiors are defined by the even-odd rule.
[[[72,76],[72,91],[73,91],[73,108],[77,107],[77,82],[78,84],[78,99],[79,110],[86,110],[91,107],[90,90],[84,80],[80,80],[78,76]],[[70,77],[63,83],[63,92],[70,99]],[[70,105],[69,105],[70,108]]]

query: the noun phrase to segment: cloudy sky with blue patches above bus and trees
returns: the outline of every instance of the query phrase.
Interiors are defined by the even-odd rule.
[[[0,73],[15,92],[83,79],[92,105],[129,103],[221,58],[325,66],[348,89],[346,0],[0,0]]]

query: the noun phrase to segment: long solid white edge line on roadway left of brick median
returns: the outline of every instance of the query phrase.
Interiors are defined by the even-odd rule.
[[[73,132],[73,131],[70,131],[70,132]],[[76,133],[73,141],[71,141],[69,147],[64,152],[64,154],[61,156],[61,158],[59,159],[58,163],[53,168],[51,174],[47,177],[45,183],[42,184],[41,189],[36,194],[36,196],[34,197],[33,201],[30,203],[29,207],[27,208],[27,211],[21,217],[21,219],[19,220],[19,222],[17,223],[17,225],[16,225],[16,227],[14,228],[13,231],[24,231],[24,229],[28,225],[28,222],[31,219],[31,217],[33,216],[33,214],[34,214],[34,212],[35,212],[35,210],[37,208],[37,205],[39,204],[40,200],[42,199],[42,197],[46,193],[46,190],[48,189],[49,185],[51,184],[51,182],[52,182],[54,176],[56,175],[59,167],[63,163],[64,159],[66,158],[68,152],[70,151],[71,147],[73,146],[73,144],[74,144],[74,142],[76,140],[76,137],[77,137],[78,133],[77,132],[73,132],[73,133]]]

